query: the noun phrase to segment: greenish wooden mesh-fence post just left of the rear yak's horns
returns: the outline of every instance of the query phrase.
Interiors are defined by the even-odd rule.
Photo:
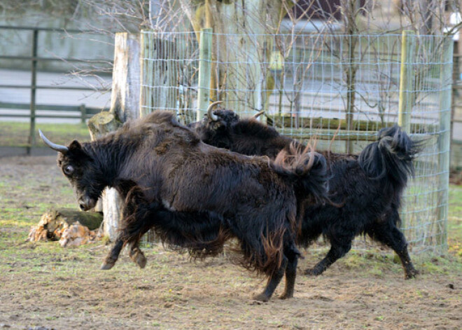
[[[201,121],[210,102],[211,48],[213,29],[202,29],[199,45],[199,90],[196,121]]]

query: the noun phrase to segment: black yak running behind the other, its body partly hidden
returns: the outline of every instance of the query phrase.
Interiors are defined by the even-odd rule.
[[[216,102],[218,103],[218,102]],[[255,118],[240,119],[231,110],[211,111],[202,122],[188,125],[203,142],[248,156],[275,158],[281,150],[300,146]],[[384,128],[377,142],[360,155],[324,152],[328,162],[329,198],[335,203],[309,205],[305,209],[300,245],[307,247],[320,235],[330,242],[330,251],[307,275],[320,275],[351,249],[356,235],[367,234],[391,247],[400,257],[405,278],[415,277],[407,242],[398,226],[402,191],[414,175],[412,160],[419,151],[398,125]]]

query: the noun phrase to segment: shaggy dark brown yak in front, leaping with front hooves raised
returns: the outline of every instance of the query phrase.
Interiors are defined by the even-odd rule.
[[[94,207],[106,186],[125,198],[120,236],[103,269],[114,265],[125,244],[132,245],[132,259],[140,258],[138,242],[149,228],[168,245],[200,257],[217,254],[226,240],[237,238],[241,263],[269,277],[255,298],[267,301],[284,273],[281,298],[293,296],[297,197],[325,197],[323,156],[287,153],[272,163],[218,149],[168,111],[90,143],[59,146],[41,136],[59,151],[58,165],[82,209]]]

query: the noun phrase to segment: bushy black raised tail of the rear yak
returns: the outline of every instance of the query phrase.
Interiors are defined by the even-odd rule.
[[[382,128],[377,142],[367,145],[360,153],[360,166],[371,179],[388,179],[403,188],[409,176],[414,177],[412,160],[421,149],[398,125]]]

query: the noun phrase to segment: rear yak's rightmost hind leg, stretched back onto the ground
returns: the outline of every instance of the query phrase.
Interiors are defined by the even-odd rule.
[[[395,216],[399,216],[398,212]],[[401,231],[396,228],[395,221],[390,221],[385,224],[380,224],[374,227],[374,233],[370,235],[375,240],[391,247],[393,251],[400,257],[402,268],[405,271],[405,279],[416,277],[419,271],[412,265],[409,252],[407,251],[407,242]]]

